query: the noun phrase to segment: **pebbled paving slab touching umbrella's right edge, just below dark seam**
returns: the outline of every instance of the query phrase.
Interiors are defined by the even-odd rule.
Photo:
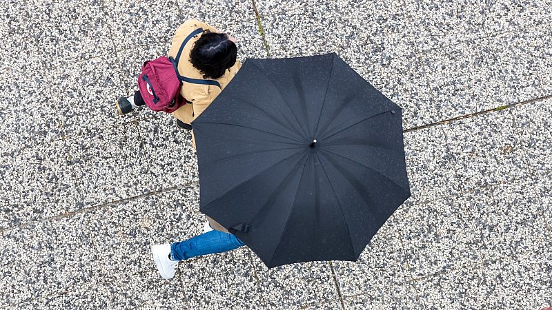
[[[454,158],[442,127],[427,127],[404,134],[406,172],[413,205],[461,192]]]

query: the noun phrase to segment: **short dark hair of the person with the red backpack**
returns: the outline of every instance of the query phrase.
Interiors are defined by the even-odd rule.
[[[190,51],[190,63],[204,79],[219,79],[236,63],[237,47],[228,34],[205,32]]]

